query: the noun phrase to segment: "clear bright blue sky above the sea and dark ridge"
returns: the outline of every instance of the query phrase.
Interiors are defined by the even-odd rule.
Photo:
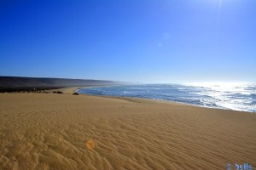
[[[2,0],[0,76],[256,82],[255,0]]]

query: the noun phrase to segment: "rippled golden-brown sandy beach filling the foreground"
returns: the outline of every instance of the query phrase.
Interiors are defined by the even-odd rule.
[[[0,169],[256,167],[255,113],[72,90],[0,94]]]

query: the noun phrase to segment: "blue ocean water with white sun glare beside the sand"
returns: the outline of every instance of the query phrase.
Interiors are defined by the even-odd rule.
[[[256,112],[256,84],[252,83],[137,84],[81,88],[77,92],[159,99],[210,108]]]

